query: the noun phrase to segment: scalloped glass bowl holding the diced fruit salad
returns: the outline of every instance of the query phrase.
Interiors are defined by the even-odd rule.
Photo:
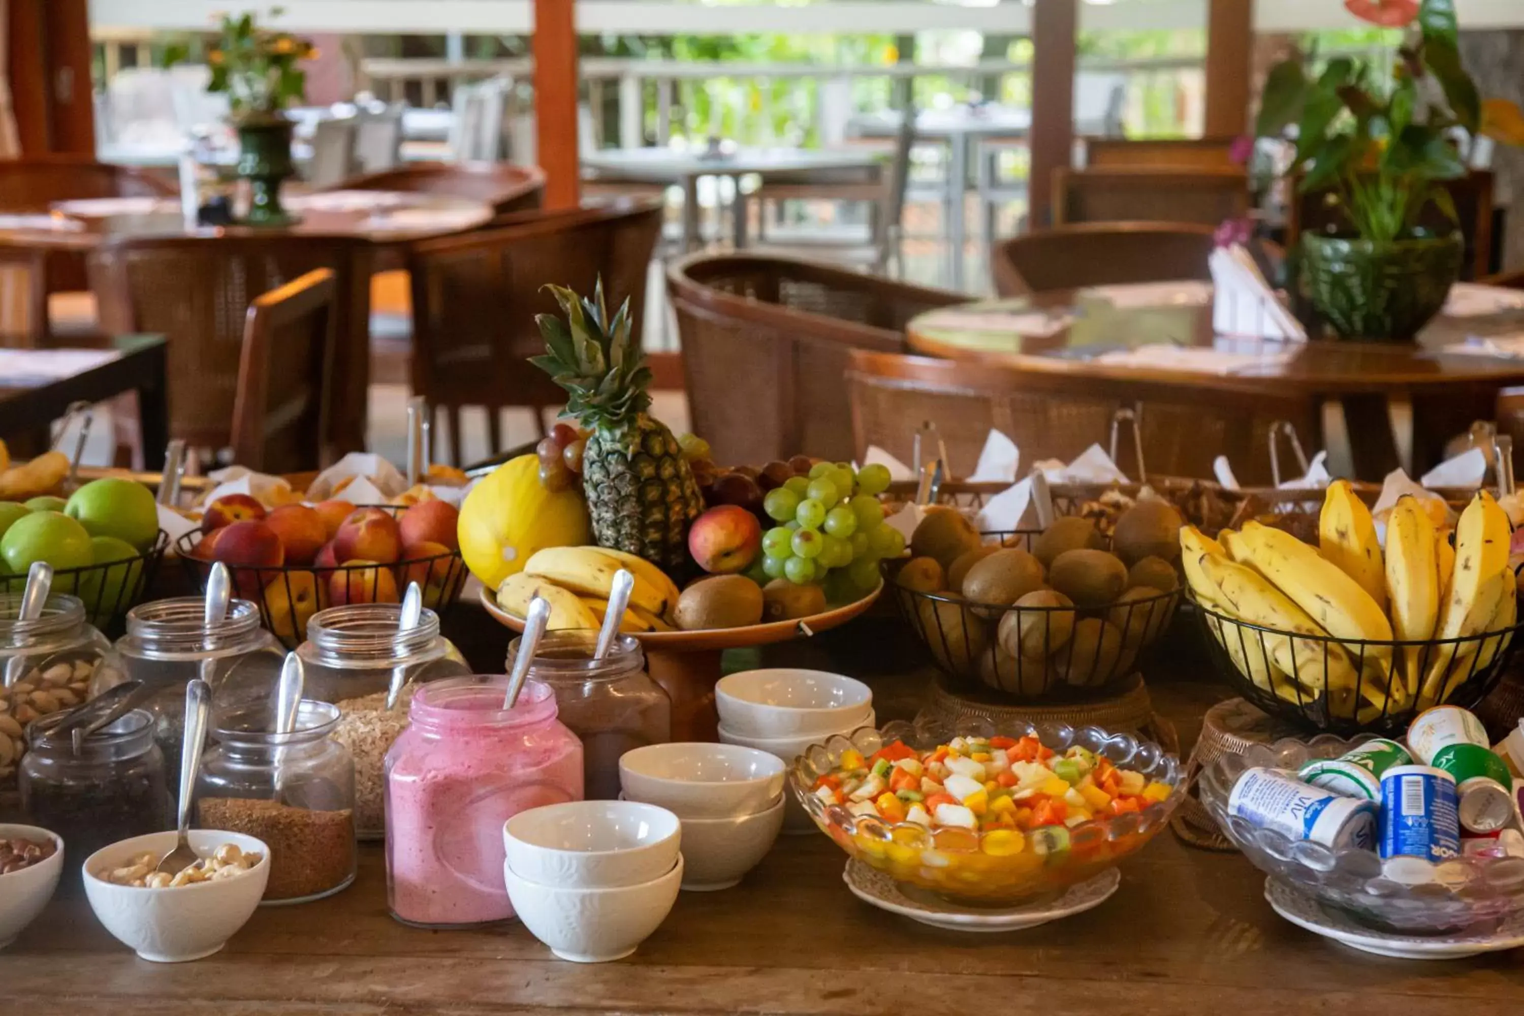
[[[1169,797],[1138,812],[1094,818],[1065,829],[1045,826],[1018,836],[1009,830],[980,833],[966,829],[936,832],[914,823],[890,823],[876,815],[855,816],[841,804],[826,804],[814,795],[817,780],[835,771],[846,751],[872,757],[896,740],[917,751],[934,749],[956,736],[1036,737],[1062,752],[1088,748],[1114,765],[1141,772],[1149,781],[1170,784]],[[952,900],[1006,903],[1058,893],[1116,865],[1169,823],[1186,795],[1186,772],[1175,756],[1131,734],[1109,734],[1099,727],[1064,724],[997,725],[969,717],[959,724],[893,722],[879,730],[864,727],[850,736],[835,736],[812,745],[794,759],[789,788],[821,832],[849,856],[893,877],[896,882],[931,890]],[[1067,835],[1065,835],[1067,833]],[[998,839],[991,839],[998,835]]]

